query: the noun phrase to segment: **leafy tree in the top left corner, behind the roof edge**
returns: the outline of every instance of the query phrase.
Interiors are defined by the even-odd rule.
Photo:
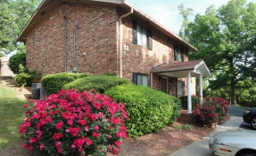
[[[15,50],[16,37],[25,27],[41,0],[0,1],[0,56]]]

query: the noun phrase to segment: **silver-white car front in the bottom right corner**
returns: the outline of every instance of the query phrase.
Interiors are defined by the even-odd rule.
[[[209,147],[214,155],[256,156],[256,131],[220,132],[210,138]]]

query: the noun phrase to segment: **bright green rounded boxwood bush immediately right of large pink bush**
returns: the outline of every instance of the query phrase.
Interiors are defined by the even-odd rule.
[[[128,136],[143,136],[157,132],[169,124],[173,113],[173,98],[145,86],[124,84],[104,94],[126,106],[129,119],[125,122]]]

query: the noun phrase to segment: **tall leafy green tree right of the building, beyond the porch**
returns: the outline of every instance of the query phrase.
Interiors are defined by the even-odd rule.
[[[197,14],[186,31],[199,50],[191,52],[190,58],[202,58],[214,75],[211,89],[229,86],[236,104],[238,82],[256,75],[256,4],[231,0],[218,10],[211,6],[204,15]]]

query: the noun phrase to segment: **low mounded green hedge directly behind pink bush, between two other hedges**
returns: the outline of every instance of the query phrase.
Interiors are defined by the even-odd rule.
[[[85,77],[74,82],[70,82],[69,84],[64,85],[63,89],[77,89],[79,91],[94,89],[95,93],[103,93],[117,85],[128,83],[130,82],[127,79],[118,78],[116,76],[99,75]]]

